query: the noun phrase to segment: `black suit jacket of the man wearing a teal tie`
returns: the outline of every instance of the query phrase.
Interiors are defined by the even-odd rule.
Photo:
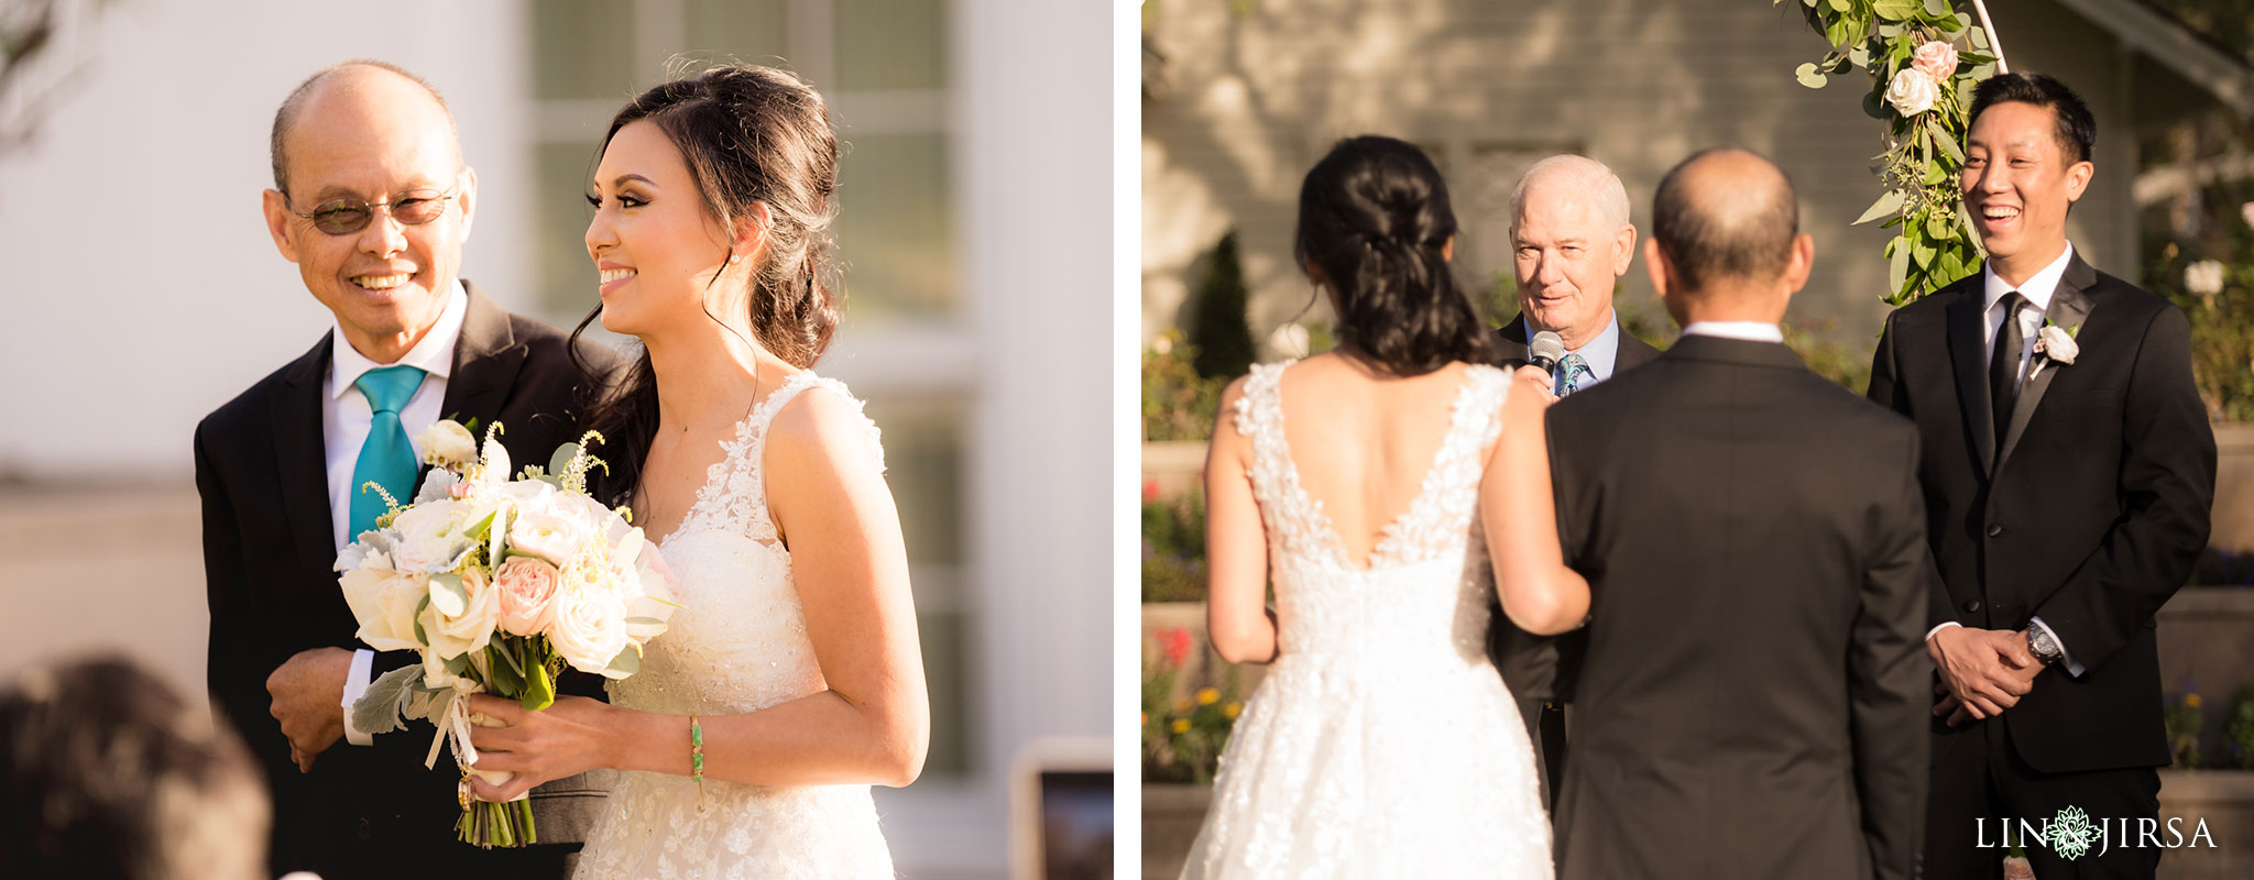
[[[566,353],[566,333],[509,315],[469,286],[453,374],[440,412],[503,421],[514,461],[548,461],[577,439],[575,405],[586,383]],[[584,344],[591,367],[615,371],[624,358]],[[320,394],[329,338],[261,378],[196,425],[196,488],[203,495],[203,569],[212,610],[212,707],[257,754],[273,790],[273,873],[309,869],[325,878],[428,871],[433,853],[460,864],[455,781],[442,754],[424,770],[431,725],[381,734],[361,747],[338,740],[300,774],[270,716],[266,675],[307,648],[365,648],[336,583]],[[415,662],[408,650],[376,655],[376,671]],[[570,680],[570,677],[568,677]],[[566,689],[600,695],[582,677]],[[570,797],[573,792],[559,792]],[[577,792],[602,797],[604,792]],[[545,828],[557,839],[566,828]]]

